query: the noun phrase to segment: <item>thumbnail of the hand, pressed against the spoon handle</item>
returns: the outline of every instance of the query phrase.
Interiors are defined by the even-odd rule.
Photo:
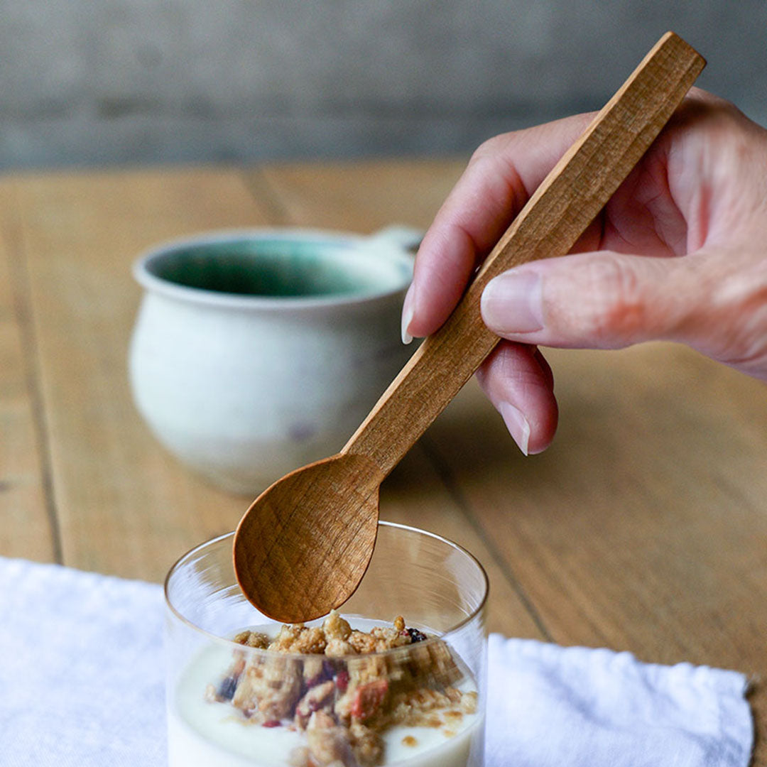
[[[542,330],[540,275],[537,272],[504,272],[489,281],[482,291],[482,320],[498,334]]]

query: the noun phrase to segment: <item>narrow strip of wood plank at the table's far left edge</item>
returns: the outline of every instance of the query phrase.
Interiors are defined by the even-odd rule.
[[[0,555],[55,561],[57,542],[53,509],[45,494],[35,344],[25,254],[15,229],[14,192],[12,179],[0,181]]]

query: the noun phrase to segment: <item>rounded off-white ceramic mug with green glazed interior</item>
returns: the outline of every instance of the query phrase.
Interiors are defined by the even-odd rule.
[[[133,266],[133,400],[179,460],[253,495],[337,453],[412,348],[413,229],[215,232]]]

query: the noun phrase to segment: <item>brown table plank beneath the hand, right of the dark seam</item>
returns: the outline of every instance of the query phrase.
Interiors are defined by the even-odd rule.
[[[474,384],[428,433],[495,556],[560,644],[749,674],[765,732],[764,384],[666,344],[547,354],[546,453],[522,456]]]

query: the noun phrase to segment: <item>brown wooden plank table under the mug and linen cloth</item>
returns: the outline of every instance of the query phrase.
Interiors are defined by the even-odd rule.
[[[248,499],[137,416],[137,253],[219,227],[426,226],[462,161],[0,179],[0,554],[160,581]],[[767,389],[683,347],[551,351],[561,425],[525,458],[472,383],[387,479],[384,518],[466,545],[510,636],[755,678],[767,760]]]

